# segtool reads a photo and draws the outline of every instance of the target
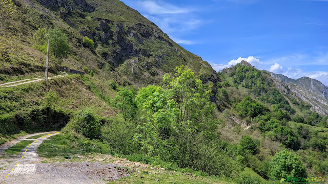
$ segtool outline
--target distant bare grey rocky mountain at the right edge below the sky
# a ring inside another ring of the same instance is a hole
[[[328,115],[328,87],[320,81],[309,77],[301,77],[297,80],[288,78],[282,74],[271,73],[276,79],[276,86],[284,90],[288,86],[293,95],[312,105],[312,110],[319,114]]]

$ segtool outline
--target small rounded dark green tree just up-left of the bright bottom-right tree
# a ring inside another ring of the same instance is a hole
[[[256,154],[258,152],[258,146],[255,140],[250,135],[244,135],[241,137],[237,153],[240,155]]]

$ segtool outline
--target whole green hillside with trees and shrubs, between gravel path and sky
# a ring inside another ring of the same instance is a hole
[[[328,176],[328,117],[268,72],[241,61],[217,73],[118,0],[3,2],[0,84],[43,77],[48,39],[49,76],[56,64],[85,75],[1,87],[0,144],[62,128],[61,157],[235,183]]]

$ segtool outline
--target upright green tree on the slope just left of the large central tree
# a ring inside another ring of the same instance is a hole
[[[121,111],[126,121],[133,118],[136,113],[137,105],[133,98],[134,94],[128,87],[118,91],[115,97],[116,107]]]

